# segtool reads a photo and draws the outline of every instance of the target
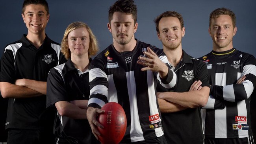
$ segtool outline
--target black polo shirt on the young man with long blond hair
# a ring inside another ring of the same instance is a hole
[[[47,106],[55,107],[59,101],[89,100],[89,70],[81,72],[69,59],[67,63],[50,70],[47,80]],[[78,120],[55,115],[54,133],[58,138],[67,139],[73,144],[98,144],[88,120]]]

